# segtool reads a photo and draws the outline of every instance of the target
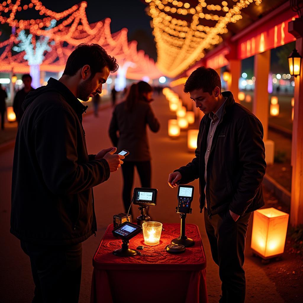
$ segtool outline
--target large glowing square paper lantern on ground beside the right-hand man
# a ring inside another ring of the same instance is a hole
[[[284,252],[289,215],[273,207],[254,212],[251,248],[262,258],[272,258]]]

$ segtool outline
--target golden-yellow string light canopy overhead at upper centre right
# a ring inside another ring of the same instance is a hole
[[[152,17],[160,71],[175,78],[205,55],[205,50],[222,41],[227,25],[242,19],[241,10],[262,0],[145,0]],[[190,3],[189,3],[190,2]],[[212,1],[213,2],[213,1]],[[194,5],[192,3],[195,3]],[[206,24],[211,24],[208,26]]]

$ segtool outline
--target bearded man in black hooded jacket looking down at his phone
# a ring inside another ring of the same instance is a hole
[[[33,302],[78,302],[82,241],[95,234],[93,186],[118,170],[124,157],[107,148],[88,155],[77,99],[102,92],[116,59],[96,44],[68,57],[59,81],[28,94],[23,103],[12,172],[11,233],[29,256]]]

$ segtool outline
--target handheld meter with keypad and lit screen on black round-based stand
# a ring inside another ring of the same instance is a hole
[[[181,218],[181,234],[178,238],[171,240],[171,244],[181,244],[185,247],[193,246],[195,241],[187,238],[185,235],[185,218],[186,214],[191,214],[191,202],[194,198],[194,187],[191,185],[179,185],[178,187],[178,206],[176,213]]]

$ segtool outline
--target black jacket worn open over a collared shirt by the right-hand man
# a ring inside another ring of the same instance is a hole
[[[262,180],[265,174],[263,127],[247,108],[235,103],[231,92],[222,92],[227,100],[217,125],[207,163],[206,201],[208,216],[226,211],[237,215],[264,205]],[[210,127],[209,115],[201,119],[196,157],[176,171],[181,184],[199,178],[200,210],[205,205],[205,152]]]

